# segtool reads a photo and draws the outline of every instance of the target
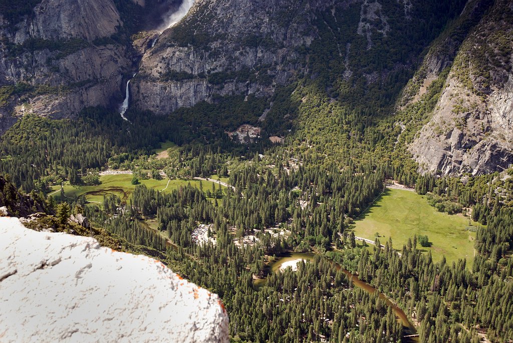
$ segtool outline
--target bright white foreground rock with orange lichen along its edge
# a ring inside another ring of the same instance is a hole
[[[0,218],[0,340],[228,342],[215,294],[157,260]]]

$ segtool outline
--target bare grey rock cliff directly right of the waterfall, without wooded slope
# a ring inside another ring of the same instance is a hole
[[[333,2],[196,0],[144,55],[131,84],[134,105],[167,114],[213,94],[271,95],[301,72],[297,48],[317,37],[313,12],[328,6]]]

